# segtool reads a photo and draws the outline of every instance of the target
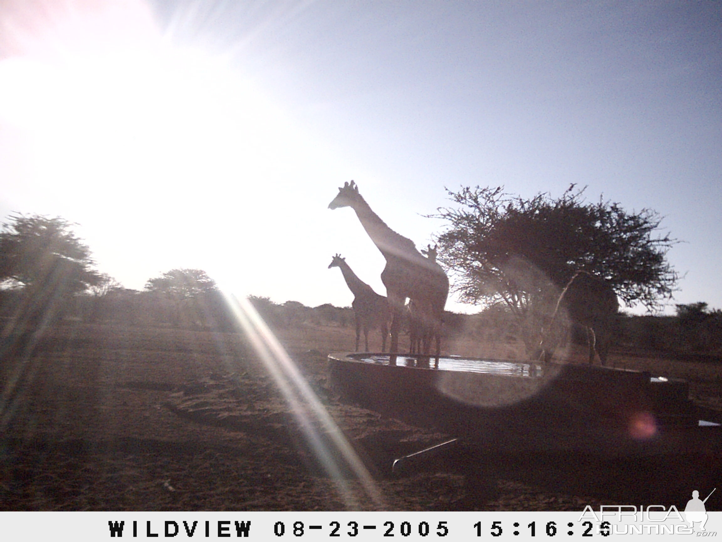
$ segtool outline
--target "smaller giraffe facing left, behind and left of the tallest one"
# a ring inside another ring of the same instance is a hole
[[[378,327],[381,331],[381,351],[384,352],[388,335],[388,320],[391,316],[388,301],[358,278],[349,267],[349,264],[346,263],[346,259],[342,258],[340,254],[336,254],[331,259],[329,269],[331,267],[339,267],[349,290],[354,294],[354,301],[351,306],[354,309],[356,319],[356,351],[359,350],[361,330],[363,330],[365,351],[368,352],[368,332]]]

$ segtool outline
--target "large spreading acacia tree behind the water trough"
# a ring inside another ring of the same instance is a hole
[[[678,275],[666,261],[677,241],[660,234],[659,215],[586,202],[570,186],[562,197],[523,199],[492,188],[447,189],[458,207],[441,207],[447,222],[439,260],[464,301],[503,303],[518,317],[534,301],[556,296],[578,270],[604,278],[627,306],[652,311],[671,298]]]

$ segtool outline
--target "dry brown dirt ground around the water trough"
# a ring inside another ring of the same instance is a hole
[[[370,477],[329,474],[263,356],[235,333],[66,325],[0,365],[3,510],[576,510],[675,504],[722,483],[719,457],[606,460],[474,454],[457,447],[406,476],[391,462],[448,436],[344,403],[326,355],[352,331],[299,327],[279,341]],[[514,358],[513,343],[456,340],[463,356]],[[572,356],[573,357],[573,356]],[[615,353],[617,366],[691,382],[722,410],[722,367]],[[310,421],[318,429],[318,421]],[[326,436],[328,431],[326,429]],[[329,442],[326,438],[324,442]],[[335,454],[335,455],[334,455]],[[331,451],[331,459],[339,452]],[[722,499],[708,510],[722,509]]]

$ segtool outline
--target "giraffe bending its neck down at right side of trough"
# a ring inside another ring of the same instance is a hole
[[[577,271],[565,285],[554,308],[547,332],[542,332],[539,342],[539,359],[549,361],[559,343],[560,311],[567,314],[570,324],[577,324],[586,330],[589,345],[589,364],[599,355],[604,366],[612,343],[614,324],[619,300],[606,280],[586,271]],[[557,329],[552,329],[556,325]],[[556,331],[556,332],[555,332]],[[599,345],[599,348],[598,348]]]

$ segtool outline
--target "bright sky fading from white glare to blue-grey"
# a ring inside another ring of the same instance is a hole
[[[385,290],[344,181],[418,248],[445,186],[577,183],[661,213],[673,304],[722,308],[720,2],[6,0],[0,59],[0,215],[129,288],[346,306],[336,253]]]

